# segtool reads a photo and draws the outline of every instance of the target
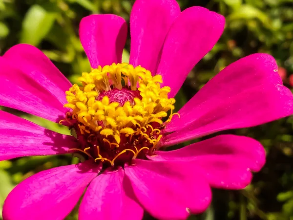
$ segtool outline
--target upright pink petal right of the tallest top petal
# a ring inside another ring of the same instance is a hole
[[[175,20],[164,43],[157,73],[174,97],[190,70],[216,44],[223,33],[223,16],[202,7],[190,7]]]

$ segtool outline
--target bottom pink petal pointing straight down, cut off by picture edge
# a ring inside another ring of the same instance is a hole
[[[79,220],[141,220],[144,210],[126,196],[124,176],[122,168],[97,176],[84,194]]]

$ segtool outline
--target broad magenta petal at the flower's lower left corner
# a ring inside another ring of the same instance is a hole
[[[6,198],[3,219],[63,220],[97,176],[92,168],[87,163],[68,165],[28,177]]]

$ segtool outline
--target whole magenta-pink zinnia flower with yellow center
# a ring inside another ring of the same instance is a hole
[[[88,185],[80,220],[139,220],[144,210],[157,219],[186,219],[207,209],[210,187],[246,187],[251,171],[265,163],[263,147],[249,137],[219,135],[179,150],[159,150],[293,113],[292,93],[282,86],[272,56],[253,54],[211,79],[178,112],[180,118],[171,113],[162,122],[189,71],[218,41],[224,23],[205,8],[180,12],[175,0],[136,0],[129,63],[142,67],[133,69],[111,65],[121,62],[126,22],[115,15],[85,17],[80,38],[94,69],[83,74],[82,88],[72,86],[37,48],[19,44],[9,49],[0,57],[0,105],[63,121],[77,138],[1,111],[0,160],[68,151],[82,152],[87,160],[22,181],[7,197],[3,218],[63,219]],[[104,71],[105,65],[111,66]]]

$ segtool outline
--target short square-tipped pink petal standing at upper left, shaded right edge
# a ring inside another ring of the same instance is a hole
[[[84,17],[79,34],[93,68],[121,63],[127,37],[127,25],[123,18],[110,14]]]

